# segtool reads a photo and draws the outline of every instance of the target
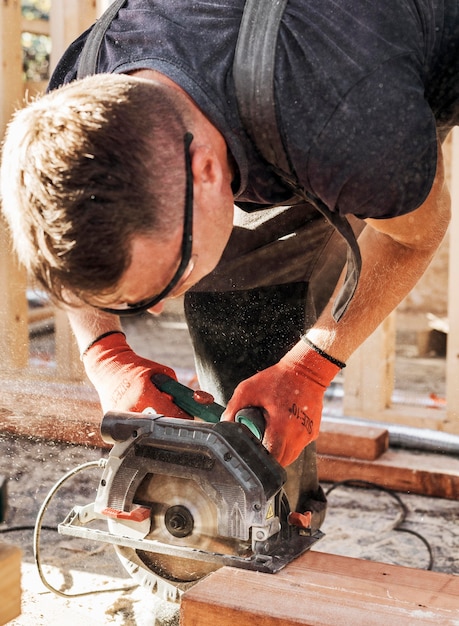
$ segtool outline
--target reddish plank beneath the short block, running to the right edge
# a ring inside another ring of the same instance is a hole
[[[388,489],[424,496],[459,497],[459,459],[430,453],[388,450],[376,461],[319,455],[319,480],[367,480]]]

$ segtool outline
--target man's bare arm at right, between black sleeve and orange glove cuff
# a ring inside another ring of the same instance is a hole
[[[365,341],[416,285],[440,245],[450,219],[441,149],[426,201],[407,215],[367,220],[359,237],[362,273],[348,311],[339,323],[325,309],[307,337],[340,361]]]

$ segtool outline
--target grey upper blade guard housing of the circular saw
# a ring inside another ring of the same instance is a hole
[[[118,523],[133,525],[136,510],[149,509],[157,526],[150,532],[204,549],[197,528],[205,529],[202,536],[244,543],[266,541],[279,532],[276,496],[286,473],[246,427],[134,415],[104,417],[103,436],[115,445],[96,512],[112,511]],[[161,524],[157,511],[164,512]]]

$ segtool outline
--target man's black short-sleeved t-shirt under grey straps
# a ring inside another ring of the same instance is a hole
[[[129,0],[98,72],[158,70],[222,132],[238,203],[286,197],[244,132],[232,63],[243,0]],[[54,89],[76,78],[87,32]],[[437,130],[459,121],[458,0],[289,0],[276,44],[280,132],[304,188],[334,211],[387,218],[417,208],[436,170]]]

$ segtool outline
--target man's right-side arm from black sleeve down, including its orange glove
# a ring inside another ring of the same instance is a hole
[[[301,339],[278,363],[242,381],[224,419],[233,420],[246,406],[262,407],[265,446],[282,465],[292,463],[319,434],[327,386],[417,283],[443,239],[449,217],[439,156],[434,184],[422,206],[403,217],[368,220],[359,238],[359,285],[341,320],[334,321],[331,300],[306,335],[311,343]]]

